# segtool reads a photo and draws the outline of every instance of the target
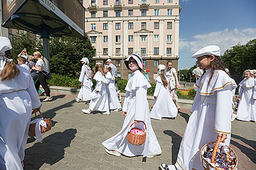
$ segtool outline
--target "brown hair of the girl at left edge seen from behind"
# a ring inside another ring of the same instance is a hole
[[[11,59],[11,51],[8,50],[5,52],[5,56],[7,56],[8,59]],[[19,68],[17,68],[16,64],[13,61],[7,62],[0,73],[1,81],[4,80],[11,80],[15,78],[17,75],[20,74]]]

